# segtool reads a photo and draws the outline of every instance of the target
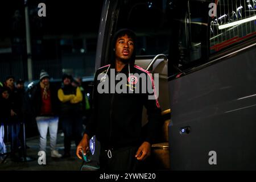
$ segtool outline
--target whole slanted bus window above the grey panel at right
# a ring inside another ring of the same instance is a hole
[[[217,16],[209,16],[208,2],[176,2],[172,17],[169,76],[195,71],[200,65],[245,45],[256,36],[256,1],[216,2]],[[238,46],[239,44],[239,46]],[[232,48],[232,49],[231,49]],[[193,70],[192,70],[193,69]]]

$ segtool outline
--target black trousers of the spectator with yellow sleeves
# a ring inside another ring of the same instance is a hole
[[[61,117],[64,133],[64,152],[69,154],[71,141],[75,140],[76,146],[82,139],[82,118],[80,115],[67,115]]]

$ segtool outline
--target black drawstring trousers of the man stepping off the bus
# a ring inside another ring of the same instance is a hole
[[[106,148],[101,148],[100,171],[144,171],[148,159],[137,160],[135,154],[138,146],[122,147],[110,152]]]

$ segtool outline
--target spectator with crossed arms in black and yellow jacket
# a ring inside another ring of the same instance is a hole
[[[76,146],[82,138],[82,92],[79,87],[71,84],[71,75],[63,75],[63,86],[58,90],[60,104],[60,121],[64,133],[63,158],[71,156],[71,140],[75,139]]]

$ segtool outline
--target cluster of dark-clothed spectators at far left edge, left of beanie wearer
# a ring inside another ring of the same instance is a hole
[[[0,154],[7,152],[5,145],[5,133],[9,136],[11,143],[11,158],[15,159],[15,152],[22,155],[22,146],[24,145],[20,135],[20,126],[23,117],[23,98],[24,81],[16,81],[14,76],[7,76],[5,81],[0,84]],[[7,130],[8,129],[8,130]],[[5,155],[1,155],[3,159]]]

